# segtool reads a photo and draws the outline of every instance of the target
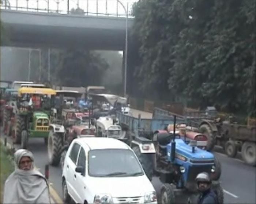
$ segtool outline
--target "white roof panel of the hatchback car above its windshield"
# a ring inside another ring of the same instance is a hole
[[[85,137],[76,138],[74,141],[80,143],[82,146],[89,146],[91,150],[94,149],[129,149],[129,146],[124,142],[108,137]]]

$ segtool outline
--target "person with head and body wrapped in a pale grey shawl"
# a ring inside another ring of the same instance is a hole
[[[4,186],[3,203],[50,203],[46,178],[34,169],[34,156],[26,149],[14,153],[15,170]]]

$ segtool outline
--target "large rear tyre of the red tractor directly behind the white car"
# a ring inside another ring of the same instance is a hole
[[[60,151],[62,147],[61,141],[62,134],[54,133],[52,130],[50,130],[47,149],[49,163],[53,166],[59,165],[60,162]]]

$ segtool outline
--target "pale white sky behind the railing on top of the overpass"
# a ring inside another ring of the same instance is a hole
[[[16,7],[16,0],[9,0],[11,6]],[[57,10],[58,0],[49,0],[49,9]],[[138,0],[120,0],[124,6],[127,8],[128,3],[128,13],[131,12],[132,4]],[[59,10],[63,13],[67,12],[67,0],[59,0]],[[96,13],[97,11],[97,0],[69,0],[69,9],[79,7],[87,11],[88,2],[88,12]],[[107,3],[107,4],[106,4]],[[37,0],[28,1],[30,8],[37,8]],[[47,0],[38,0],[39,9],[47,9]],[[26,7],[27,0],[18,0],[18,7]],[[21,9],[19,9],[21,10]],[[26,9],[25,9],[26,10]],[[107,12],[106,12],[107,11]],[[41,11],[42,12],[42,11]],[[98,0],[98,13],[108,13],[116,15],[117,13],[117,0]],[[118,3],[118,14],[125,15],[125,11],[120,3]]]

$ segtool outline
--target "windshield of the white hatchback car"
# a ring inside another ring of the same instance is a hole
[[[90,150],[88,157],[90,176],[141,176],[144,174],[139,161],[131,150]]]

